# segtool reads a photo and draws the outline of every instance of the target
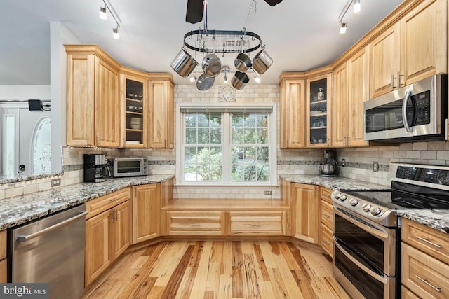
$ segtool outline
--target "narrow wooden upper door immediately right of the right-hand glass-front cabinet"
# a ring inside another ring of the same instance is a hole
[[[332,146],[342,147],[347,144],[348,135],[348,81],[347,63],[334,71],[333,80],[333,125]]]

